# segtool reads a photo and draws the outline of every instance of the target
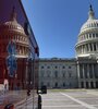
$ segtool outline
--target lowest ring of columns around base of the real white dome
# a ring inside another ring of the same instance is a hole
[[[90,51],[98,51],[97,48],[98,48],[98,43],[86,44],[77,47],[76,52],[79,55],[79,53],[86,53]]]

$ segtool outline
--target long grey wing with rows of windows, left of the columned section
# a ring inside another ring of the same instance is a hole
[[[75,88],[77,87],[75,59],[40,59],[39,86],[48,88]]]

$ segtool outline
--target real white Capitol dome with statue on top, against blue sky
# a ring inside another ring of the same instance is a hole
[[[98,57],[98,20],[91,5],[88,20],[81,27],[75,49],[76,57]]]

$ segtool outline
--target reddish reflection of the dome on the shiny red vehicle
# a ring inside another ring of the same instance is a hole
[[[0,24],[0,45],[2,46],[2,57],[7,57],[7,49],[9,43],[15,43],[16,45],[16,57],[26,58],[28,57],[29,44],[28,36],[25,34],[24,28],[17,23],[16,13],[13,8],[10,21]]]

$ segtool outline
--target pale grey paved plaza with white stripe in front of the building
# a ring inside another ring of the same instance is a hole
[[[48,90],[42,109],[98,109],[98,90]]]

